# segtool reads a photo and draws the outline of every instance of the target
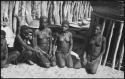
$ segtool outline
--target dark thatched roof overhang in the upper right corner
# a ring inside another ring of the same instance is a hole
[[[124,1],[90,1],[95,12],[104,16],[124,20]]]

